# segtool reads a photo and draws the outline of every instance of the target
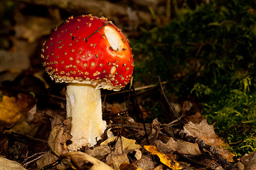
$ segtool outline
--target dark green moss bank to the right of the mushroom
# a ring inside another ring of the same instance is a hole
[[[211,1],[131,40],[135,81],[159,75],[167,93],[193,95],[236,155],[256,149],[255,13],[254,1]]]

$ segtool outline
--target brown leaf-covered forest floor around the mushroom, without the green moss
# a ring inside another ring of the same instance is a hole
[[[94,147],[69,152],[65,84],[51,81],[41,64],[41,47],[53,28],[70,13],[90,11],[107,15],[119,23],[127,36],[137,37],[139,32],[135,30],[146,22],[164,24],[171,18],[171,13],[165,13],[168,18],[154,18],[148,8],[140,8],[145,6],[143,1],[133,2],[134,8],[127,8],[124,1],[119,4],[88,1],[91,6],[78,2],[2,3],[10,9],[11,18],[7,20],[10,24],[1,30],[0,167],[6,170],[256,169],[255,152],[234,157],[225,140],[216,135],[214,124],[209,125],[203,118],[201,103],[193,98],[170,102],[164,91],[169,82],[160,79],[159,84],[143,85],[137,81],[118,92],[102,90],[102,116],[107,122],[102,139]],[[163,1],[146,2],[152,3],[152,10],[165,6]],[[169,114],[164,118],[166,122],[161,121],[163,118],[153,118],[152,98],[157,98]]]

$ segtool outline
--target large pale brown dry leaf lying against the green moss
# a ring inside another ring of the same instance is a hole
[[[228,147],[228,144],[215,134],[213,125],[208,125],[206,119],[202,120],[201,123],[198,124],[188,122],[184,126],[184,131],[193,137],[199,137],[201,140],[206,142],[206,144],[217,148],[223,158],[227,159],[229,162],[233,162],[234,154],[223,148]]]

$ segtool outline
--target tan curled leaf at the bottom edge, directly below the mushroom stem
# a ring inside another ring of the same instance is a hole
[[[95,157],[83,152],[68,152],[60,156],[63,164],[71,166],[73,169],[88,169],[88,170],[113,170],[107,164],[101,162]]]

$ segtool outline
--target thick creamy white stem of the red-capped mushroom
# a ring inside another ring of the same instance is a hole
[[[68,84],[66,90],[67,118],[72,117],[70,151],[94,146],[106,128],[102,120],[100,89],[86,84]]]

